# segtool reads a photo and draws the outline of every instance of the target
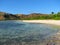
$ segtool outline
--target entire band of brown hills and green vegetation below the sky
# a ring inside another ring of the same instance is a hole
[[[40,14],[40,13],[32,13],[32,14],[8,14],[0,12],[0,20],[60,20],[60,12],[57,14],[54,14],[54,12],[51,12],[51,14]]]

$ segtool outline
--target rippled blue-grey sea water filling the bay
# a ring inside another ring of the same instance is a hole
[[[49,24],[0,21],[0,45],[41,45],[59,30]]]

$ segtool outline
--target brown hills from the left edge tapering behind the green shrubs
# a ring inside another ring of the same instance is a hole
[[[0,12],[0,20],[20,20],[20,19],[30,19],[32,17],[38,16],[47,16],[47,14],[40,14],[40,13],[32,13],[32,14],[9,14],[5,12]]]

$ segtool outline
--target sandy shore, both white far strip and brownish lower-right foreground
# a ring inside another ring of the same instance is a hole
[[[43,23],[43,24],[51,24],[51,25],[60,26],[60,20],[23,20],[23,22]],[[55,44],[60,45],[60,31],[52,35],[47,41],[47,45],[55,45]]]

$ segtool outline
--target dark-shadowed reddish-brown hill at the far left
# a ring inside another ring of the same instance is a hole
[[[17,15],[0,12],[0,20],[16,20],[19,17]]]

